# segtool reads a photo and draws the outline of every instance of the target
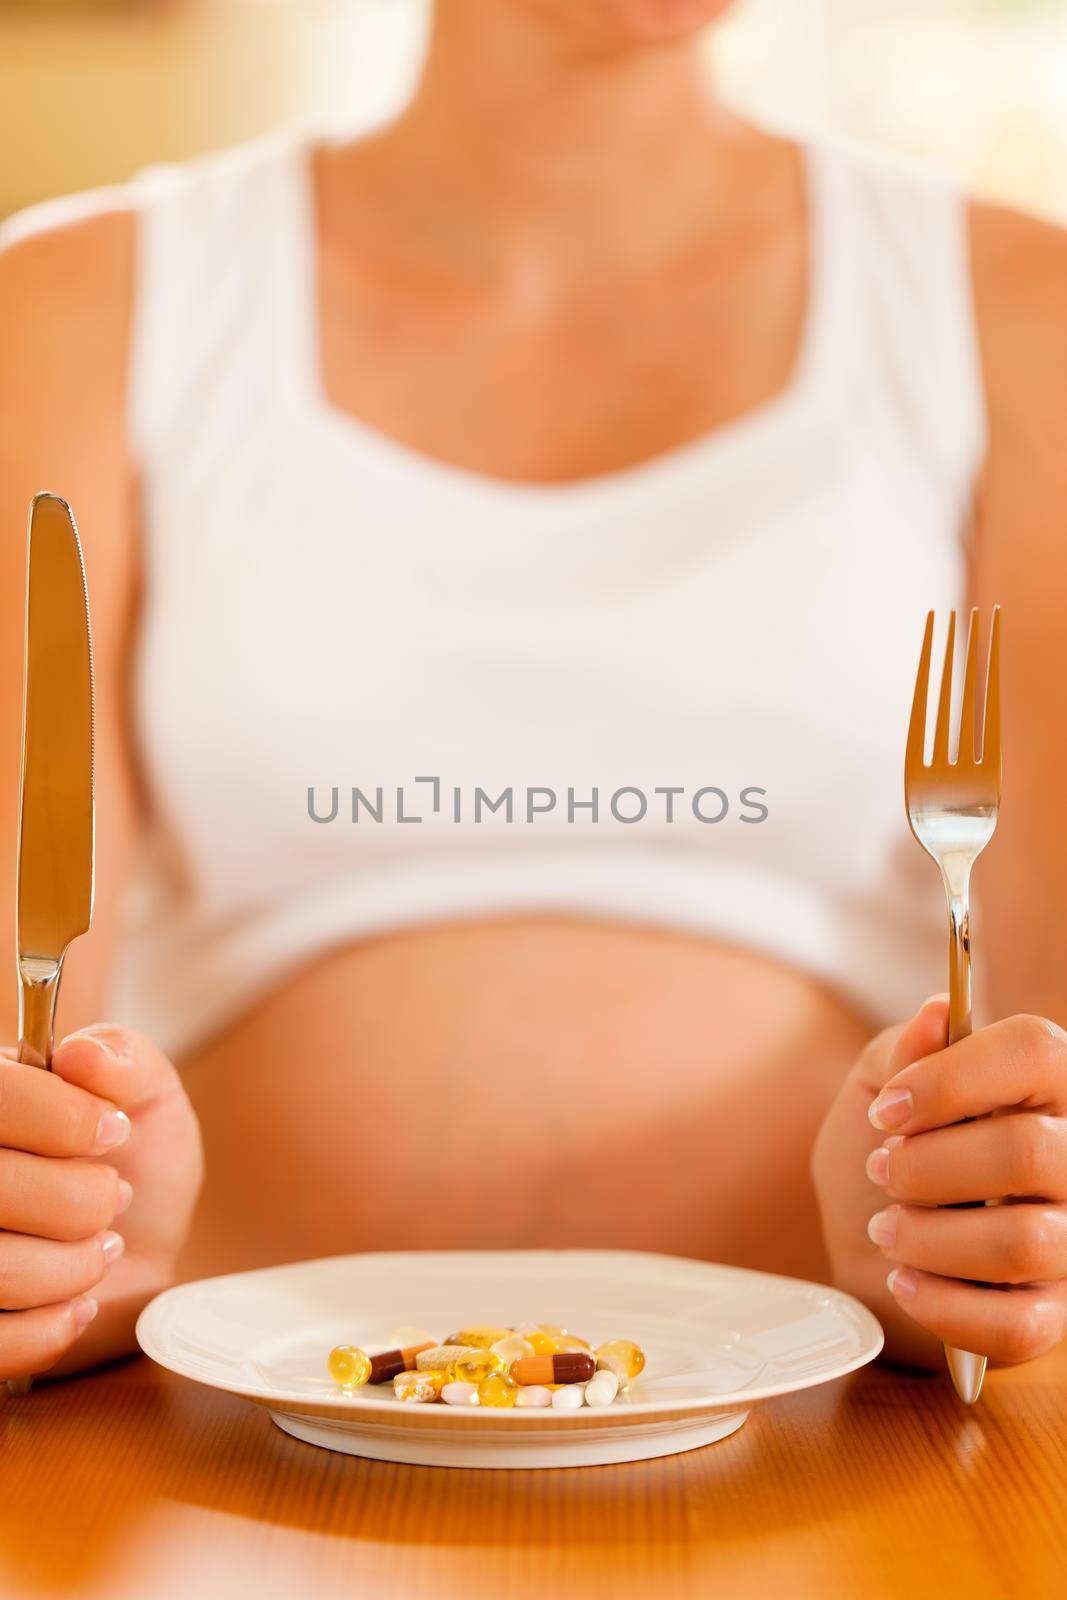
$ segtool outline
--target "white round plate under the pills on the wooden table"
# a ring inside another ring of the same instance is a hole
[[[464,1323],[569,1326],[635,1339],[641,1378],[614,1405],[507,1411],[405,1405],[392,1387],[341,1394],[334,1344],[382,1346],[402,1323],[440,1338]],[[573,1467],[643,1461],[725,1438],[758,1400],[854,1371],[881,1328],[848,1294],[766,1272],[614,1250],[333,1256],[166,1290],[138,1322],[174,1373],[270,1410],[328,1450],[435,1467]]]

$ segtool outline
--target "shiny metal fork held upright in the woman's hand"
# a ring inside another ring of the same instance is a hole
[[[1000,606],[993,606],[985,669],[982,750],[976,755],[977,610],[971,611],[963,669],[958,755],[949,757],[952,720],[952,661],[957,614],[949,614],[949,638],[941,674],[934,749],[926,765],[926,701],[934,613],[926,618],[923,651],[915,678],[912,720],[904,758],[904,802],[912,834],[941,867],[949,901],[949,1043],[971,1032],[971,867],[989,845],[1000,810]],[[945,1360],[961,1400],[977,1400],[985,1357],[945,1346]]]

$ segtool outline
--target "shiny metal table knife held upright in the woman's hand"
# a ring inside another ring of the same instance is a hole
[[[93,920],[93,646],[74,514],[29,515],[18,861],[19,1061],[51,1066],[67,946]],[[29,1379],[11,1379],[26,1394]]]

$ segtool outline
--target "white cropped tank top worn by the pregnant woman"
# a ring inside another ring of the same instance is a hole
[[[182,1054],[349,941],[573,914],[905,1016],[944,981],[944,909],[904,733],[984,453],[961,197],[808,147],[787,389],[648,464],[518,485],[325,398],[310,147],[131,189],[152,818],[115,1014]]]

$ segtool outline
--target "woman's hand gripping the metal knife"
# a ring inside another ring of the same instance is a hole
[[[0,1378],[134,1347],[200,1189],[178,1072],[112,1024],[67,1035],[51,1072],[0,1053]],[[88,1331],[86,1331],[88,1330]]]

